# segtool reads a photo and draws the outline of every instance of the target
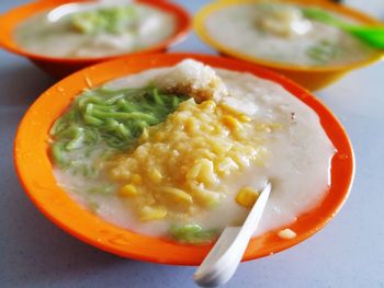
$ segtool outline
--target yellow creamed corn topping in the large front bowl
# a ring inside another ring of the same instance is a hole
[[[230,177],[262,164],[267,134],[257,125],[222,104],[191,99],[147,127],[134,151],[108,165],[110,176],[123,183],[118,195],[143,221],[199,214],[226,197]],[[236,200],[251,207],[257,196],[244,188]]]

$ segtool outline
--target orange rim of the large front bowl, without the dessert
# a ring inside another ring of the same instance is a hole
[[[331,161],[331,185],[325,199],[297,221],[284,228],[297,233],[294,239],[281,239],[276,231],[253,238],[244,261],[270,255],[293,246],[323,228],[339,211],[348,197],[354,160],[348,136],[336,117],[305,89],[264,68],[216,56],[161,54],[120,58],[78,71],[43,93],[23,117],[14,141],[14,161],[19,178],[32,201],[54,223],[74,237],[113,254],[166,264],[197,265],[211,245],[184,245],[166,239],[150,238],[104,221],[74,201],[56,184],[48,157],[48,130],[75,96],[84,88],[95,88],[113,79],[146,69],[169,67],[193,58],[215,68],[249,72],[281,84],[312,107],[337,149]]]

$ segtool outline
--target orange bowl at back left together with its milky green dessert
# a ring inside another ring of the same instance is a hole
[[[126,55],[166,50],[189,31],[190,18],[168,1],[43,0],[0,16],[0,46],[63,78]]]

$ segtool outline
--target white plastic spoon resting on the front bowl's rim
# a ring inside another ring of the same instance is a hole
[[[231,278],[259,224],[271,189],[271,183],[267,182],[242,226],[224,229],[216,244],[193,275],[197,285],[216,287]]]

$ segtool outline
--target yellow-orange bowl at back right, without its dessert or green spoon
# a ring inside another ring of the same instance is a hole
[[[372,57],[365,60],[348,64],[348,65],[327,66],[327,67],[294,66],[290,64],[270,61],[270,60],[266,60],[262,58],[257,58],[257,57],[244,54],[235,48],[230,48],[226,46],[225,43],[217,42],[207,33],[205,28],[205,20],[210,18],[210,15],[215,11],[229,8],[230,5],[238,5],[241,3],[252,3],[252,2],[260,2],[260,1],[263,1],[263,0],[219,0],[213,3],[210,3],[205,5],[201,11],[199,11],[197,14],[195,15],[194,23],[193,23],[194,30],[203,42],[205,42],[207,45],[212,46],[219,53],[234,58],[247,60],[247,61],[255,62],[263,67],[270,68],[281,74],[284,74],[291,78],[292,80],[294,80],[295,82],[300,83],[301,85],[305,87],[310,91],[325,88],[334,83],[341,77],[343,77],[347,72],[371,65],[382,59],[384,56],[384,51],[377,50],[376,54],[374,54]],[[366,25],[383,25],[383,23],[376,19],[373,19],[369,15],[365,15],[357,10],[347,8],[345,5],[332,3],[330,1],[287,0],[287,2],[296,3],[301,5],[316,5],[316,7],[332,11],[335,13],[354,19],[358,22]]]

